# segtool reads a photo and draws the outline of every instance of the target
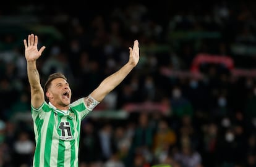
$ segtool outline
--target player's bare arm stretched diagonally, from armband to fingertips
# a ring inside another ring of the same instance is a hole
[[[130,71],[137,65],[139,62],[139,42],[137,40],[134,41],[134,46],[129,47],[130,56],[129,61],[121,67],[118,71],[113,73],[112,75],[105,78],[98,88],[96,88],[92,93],[91,96],[93,99],[101,102],[104,97],[111,92],[118,84],[120,84],[124,78],[130,73]]]

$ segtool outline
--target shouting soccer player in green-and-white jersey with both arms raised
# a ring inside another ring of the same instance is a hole
[[[30,34],[23,40],[27,75],[31,89],[31,113],[35,132],[33,166],[79,166],[80,124],[83,118],[111,92],[139,62],[139,43],[129,47],[129,61],[85,97],[71,102],[72,91],[62,73],[49,75],[41,87],[36,60],[45,50],[38,50],[38,36]],[[48,103],[46,99],[48,99]]]

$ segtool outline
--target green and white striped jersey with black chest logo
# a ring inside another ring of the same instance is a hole
[[[36,148],[33,166],[78,167],[81,121],[90,112],[83,98],[76,100],[65,113],[46,102],[32,107]]]

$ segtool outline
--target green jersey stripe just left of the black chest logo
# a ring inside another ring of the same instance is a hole
[[[48,127],[46,132],[46,141],[45,141],[45,165],[50,164],[51,160],[51,143],[53,139],[53,129],[54,129],[54,112],[51,112],[48,121]]]

